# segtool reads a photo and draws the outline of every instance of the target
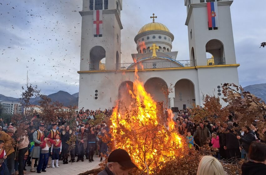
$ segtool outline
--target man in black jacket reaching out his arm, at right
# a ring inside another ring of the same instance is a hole
[[[256,138],[255,138],[254,132],[248,126],[245,126],[243,130],[245,132],[243,138],[241,138],[240,136],[237,136],[237,139],[240,140],[242,143],[239,149],[242,150],[243,148],[248,153],[250,144],[253,141],[255,141]],[[248,154],[247,154],[247,159],[248,159]]]

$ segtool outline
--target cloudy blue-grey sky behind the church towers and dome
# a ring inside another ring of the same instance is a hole
[[[37,85],[43,94],[79,91],[82,0],[0,0],[0,94],[19,98],[21,86]],[[266,83],[266,1],[235,0],[231,6],[239,82]],[[121,62],[132,62],[134,37],[151,22],[165,24],[175,36],[172,51],[189,59],[184,0],[123,0]]]

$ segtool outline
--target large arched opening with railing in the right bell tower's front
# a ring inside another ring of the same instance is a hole
[[[223,43],[217,39],[208,41],[206,44],[206,58],[207,65],[225,64]]]

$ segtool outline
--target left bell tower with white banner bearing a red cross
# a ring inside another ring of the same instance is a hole
[[[120,63],[122,0],[83,0],[80,71],[114,70]]]

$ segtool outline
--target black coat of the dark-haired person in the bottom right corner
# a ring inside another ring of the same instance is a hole
[[[248,161],[243,163],[242,175],[266,175],[266,165],[264,163],[254,163]]]

